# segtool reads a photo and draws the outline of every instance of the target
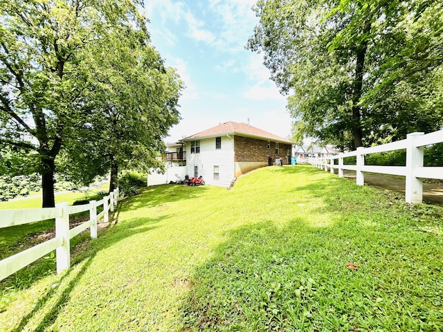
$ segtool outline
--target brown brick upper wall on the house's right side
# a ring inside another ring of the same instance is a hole
[[[278,157],[283,159],[284,164],[286,164],[287,149],[291,151],[291,145],[280,143],[280,154]],[[267,140],[235,136],[234,154],[235,162],[255,161],[267,163],[268,156],[271,156],[272,161],[275,162],[275,142],[271,141],[271,147],[268,149]]]

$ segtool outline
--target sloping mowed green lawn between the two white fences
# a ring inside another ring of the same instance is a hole
[[[150,187],[66,273],[3,282],[0,330],[440,331],[442,216],[308,165]]]

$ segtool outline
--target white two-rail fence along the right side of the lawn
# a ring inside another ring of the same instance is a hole
[[[338,176],[343,177],[343,169],[356,171],[356,184],[364,185],[363,172],[401,175],[406,177],[405,196],[408,203],[422,203],[422,178],[436,178],[443,180],[443,167],[423,167],[423,147],[443,142],[443,130],[433,133],[408,133],[406,140],[399,140],[376,147],[357,147],[356,151],[328,156],[325,158],[311,158],[309,163],[320,168],[328,168],[331,173],[338,169]],[[378,152],[406,149],[406,166],[370,166],[365,165],[365,155]],[[356,156],[356,165],[344,165],[343,158]],[[334,160],[338,159],[338,165]]]

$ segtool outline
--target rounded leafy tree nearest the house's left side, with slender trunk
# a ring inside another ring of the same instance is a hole
[[[147,171],[161,165],[156,154],[163,150],[168,129],[179,121],[177,102],[183,89],[177,73],[165,68],[150,45],[147,33],[127,29],[123,36],[120,29],[111,29],[100,48],[93,48],[88,68],[96,106],[67,147],[76,157],[66,159],[70,161],[65,165],[71,168],[68,174],[86,183],[110,169],[110,192],[118,169]],[[88,148],[79,154],[85,144]]]

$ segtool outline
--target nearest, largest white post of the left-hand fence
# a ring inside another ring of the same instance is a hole
[[[62,216],[55,218],[55,237],[62,240],[62,246],[55,249],[57,257],[57,273],[71,266],[71,249],[69,247],[69,214],[67,212],[68,203],[58,203],[55,205],[62,209]]]

